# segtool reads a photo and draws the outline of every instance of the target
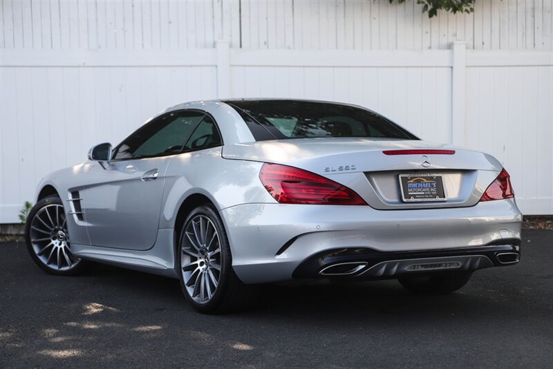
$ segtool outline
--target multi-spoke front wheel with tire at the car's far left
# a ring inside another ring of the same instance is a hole
[[[85,261],[71,251],[64,203],[57,196],[37,202],[25,223],[27,250],[45,272],[73,276],[83,271]]]

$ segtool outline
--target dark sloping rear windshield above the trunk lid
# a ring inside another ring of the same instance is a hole
[[[256,141],[316,137],[418,140],[382,115],[355,106],[293,100],[229,101]]]

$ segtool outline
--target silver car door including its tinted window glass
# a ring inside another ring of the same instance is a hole
[[[145,124],[96,162],[82,191],[91,244],[146,250],[156,242],[165,171],[205,113],[176,111]]]

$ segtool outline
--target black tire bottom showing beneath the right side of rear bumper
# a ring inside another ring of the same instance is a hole
[[[449,294],[467,284],[472,272],[442,276],[404,276],[397,278],[401,285],[414,294]]]

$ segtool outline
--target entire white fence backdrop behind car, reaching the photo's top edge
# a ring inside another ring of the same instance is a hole
[[[366,106],[495,155],[523,213],[553,214],[552,5],[429,19],[415,0],[1,0],[0,223],[93,144],[227,97]]]

